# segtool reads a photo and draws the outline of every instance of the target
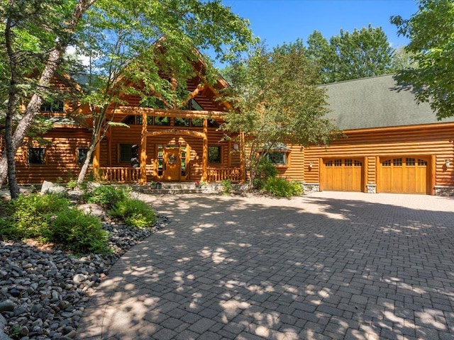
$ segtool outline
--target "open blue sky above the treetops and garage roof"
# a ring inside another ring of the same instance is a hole
[[[406,45],[408,40],[397,36],[390,16],[409,18],[418,4],[413,0],[222,0],[233,13],[248,18],[255,35],[269,47],[294,42],[319,30],[329,40],[341,28],[382,27],[392,47]]]

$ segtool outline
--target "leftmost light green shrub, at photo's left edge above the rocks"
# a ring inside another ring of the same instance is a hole
[[[10,217],[1,222],[0,234],[13,239],[40,238],[58,212],[67,210],[69,201],[55,193],[19,196],[9,203]]]

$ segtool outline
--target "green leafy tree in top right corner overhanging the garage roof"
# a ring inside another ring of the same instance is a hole
[[[437,118],[454,115],[454,2],[420,0],[409,19],[392,16],[400,35],[410,39],[406,52],[418,67],[397,74],[399,84],[412,84],[416,100],[428,102]]]

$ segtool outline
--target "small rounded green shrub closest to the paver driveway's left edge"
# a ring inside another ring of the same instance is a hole
[[[156,221],[155,212],[141,200],[126,198],[119,200],[109,211],[109,215],[126,222],[130,227],[150,227]]]

